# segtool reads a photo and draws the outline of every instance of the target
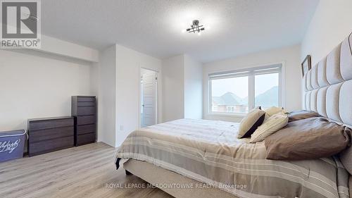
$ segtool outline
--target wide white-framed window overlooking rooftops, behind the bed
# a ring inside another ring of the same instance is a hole
[[[209,75],[209,113],[281,106],[282,64]]]

